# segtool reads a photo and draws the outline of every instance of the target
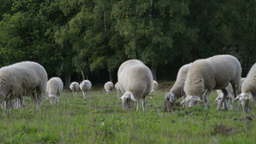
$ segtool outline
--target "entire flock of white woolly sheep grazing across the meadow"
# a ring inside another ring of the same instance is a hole
[[[86,99],[91,86],[89,80],[84,80],[80,84],[73,82],[69,88],[73,96],[81,89]],[[140,111],[139,101],[142,99],[145,111],[146,97],[150,92],[155,92],[158,83],[141,60],[126,60],[119,66],[118,82],[115,85],[110,81],[104,84],[107,94],[111,93],[113,87],[118,91],[118,99],[122,101],[124,110],[130,110],[137,103],[137,111]],[[214,89],[218,92],[218,110],[230,107],[238,110],[239,100],[243,112],[251,112],[256,100],[256,64],[248,72],[247,78],[241,78],[241,64],[232,55],[215,55],[182,66],[175,84],[166,93],[165,110],[171,111],[182,97],[179,105],[183,107],[195,107],[197,103],[208,107],[209,95]],[[61,78],[48,80],[44,67],[36,62],[23,61],[0,69],[0,105],[6,110],[24,107],[24,95],[31,95],[36,108],[41,106],[44,98],[49,99],[50,103],[59,103],[62,90]]]

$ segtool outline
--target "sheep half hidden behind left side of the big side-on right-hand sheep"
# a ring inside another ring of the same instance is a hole
[[[189,66],[191,63],[183,65],[177,72],[176,82],[173,84],[170,92],[166,93],[165,96],[165,110],[169,112],[172,106],[175,106],[176,101],[185,96],[183,87],[187,77],[187,73],[189,71]]]

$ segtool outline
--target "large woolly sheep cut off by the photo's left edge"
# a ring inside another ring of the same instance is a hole
[[[46,94],[47,72],[33,61],[22,61],[0,69],[0,104],[4,101],[20,99],[24,107],[23,95],[32,95],[35,108],[41,106]]]

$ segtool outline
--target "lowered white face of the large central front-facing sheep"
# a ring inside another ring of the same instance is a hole
[[[122,101],[123,110],[130,110],[136,101],[131,91],[126,91],[119,100]]]

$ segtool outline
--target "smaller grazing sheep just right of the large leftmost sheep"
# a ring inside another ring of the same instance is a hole
[[[62,90],[63,90],[63,82],[61,78],[53,77],[49,79],[49,81],[47,82],[46,91],[48,93],[49,102],[51,104],[53,104],[55,100],[56,100],[56,103],[60,102],[60,96],[61,96]]]

